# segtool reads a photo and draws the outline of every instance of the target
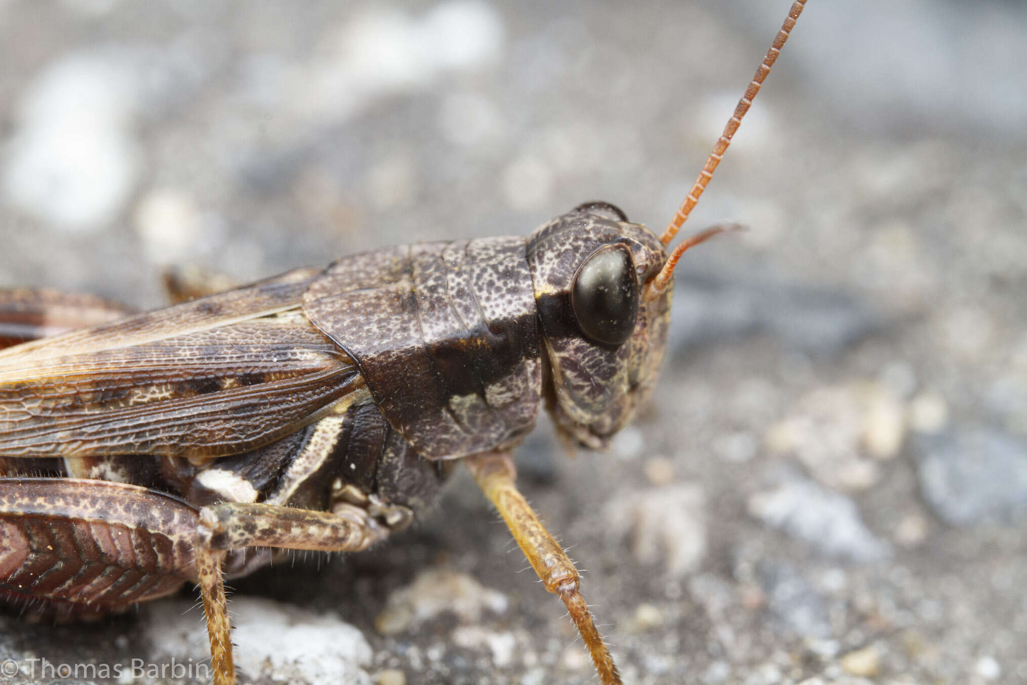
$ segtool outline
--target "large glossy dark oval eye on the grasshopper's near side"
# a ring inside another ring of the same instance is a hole
[[[626,245],[603,245],[584,261],[574,276],[571,307],[581,333],[593,342],[619,345],[627,340],[639,315],[639,280]]]

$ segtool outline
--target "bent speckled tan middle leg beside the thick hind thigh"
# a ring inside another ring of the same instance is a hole
[[[193,544],[215,685],[233,685],[231,623],[221,562],[232,549],[279,547],[314,551],[359,551],[384,539],[386,528],[364,509],[338,504],[311,511],[273,504],[226,502],[204,507]]]

